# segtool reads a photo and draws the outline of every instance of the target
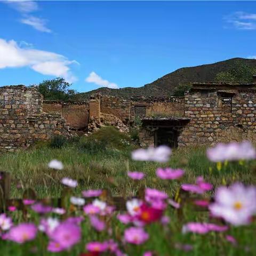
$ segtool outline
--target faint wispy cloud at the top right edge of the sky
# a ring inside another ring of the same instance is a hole
[[[256,14],[246,12],[234,12],[226,16],[225,21],[230,27],[241,30],[256,29]]]

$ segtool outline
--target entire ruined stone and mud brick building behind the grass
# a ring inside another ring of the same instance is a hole
[[[26,148],[55,134],[139,125],[141,146],[211,145],[255,140],[256,83],[195,83],[185,97],[92,95],[89,101],[43,101],[35,87],[0,87],[0,149]]]

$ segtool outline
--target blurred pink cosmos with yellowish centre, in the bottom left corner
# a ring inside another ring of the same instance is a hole
[[[6,234],[6,239],[23,244],[27,241],[34,240],[36,237],[37,228],[33,223],[20,223],[14,226]]]

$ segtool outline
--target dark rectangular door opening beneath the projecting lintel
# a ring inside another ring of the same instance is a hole
[[[174,127],[159,128],[155,131],[155,147],[166,145],[171,148],[178,147],[179,132]]]

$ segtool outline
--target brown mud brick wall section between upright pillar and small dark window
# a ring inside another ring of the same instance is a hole
[[[128,125],[130,121],[130,101],[122,97],[102,96],[100,100],[100,112],[114,115]]]

